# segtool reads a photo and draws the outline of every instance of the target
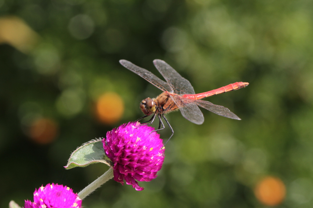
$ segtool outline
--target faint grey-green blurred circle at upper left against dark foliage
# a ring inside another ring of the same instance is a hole
[[[79,14],[69,21],[69,33],[77,40],[84,40],[94,32],[95,23],[86,14]]]

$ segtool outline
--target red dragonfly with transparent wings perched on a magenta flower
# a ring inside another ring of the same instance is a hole
[[[165,114],[172,111],[180,110],[182,116],[185,117],[188,121],[199,125],[203,124],[204,117],[198,106],[213,113],[216,113],[220,116],[241,120],[228,108],[224,106],[214,105],[211,102],[201,99],[247,87],[249,85],[248,82],[235,82],[233,84],[229,84],[215,90],[196,94],[191,83],[187,79],[183,78],[165,61],[155,59],[153,61],[153,64],[160,72],[160,74],[164,77],[166,82],[164,82],[162,79],[149,72],[148,70],[138,67],[127,60],[120,60],[120,63],[125,68],[136,73],[137,75],[144,78],[146,81],[150,82],[151,84],[163,91],[156,98],[151,99],[150,97],[148,97],[141,101],[140,109],[145,114],[145,116],[139,118],[137,121],[140,121],[147,116],[153,115],[150,120],[142,122],[143,125],[150,125],[153,123],[157,116],[159,118],[159,128],[155,131],[160,131],[165,128],[162,121],[163,117],[163,119],[166,121],[167,125],[172,131],[172,135],[169,137],[168,140],[170,140],[170,138],[173,136],[174,131],[172,126],[168,122]],[[167,141],[165,142],[165,144],[167,143]]]

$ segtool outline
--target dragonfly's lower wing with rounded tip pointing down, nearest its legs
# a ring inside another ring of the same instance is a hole
[[[195,124],[203,124],[204,117],[199,109],[199,107],[192,102],[190,99],[181,99],[178,95],[170,95],[172,100],[178,106],[182,116],[184,116],[188,121]],[[190,100],[190,101],[189,101]]]

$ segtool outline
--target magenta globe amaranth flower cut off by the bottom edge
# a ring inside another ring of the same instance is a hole
[[[67,186],[47,184],[34,192],[34,202],[25,200],[24,208],[80,208],[82,200]]]

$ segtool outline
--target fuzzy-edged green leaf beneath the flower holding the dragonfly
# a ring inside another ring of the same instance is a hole
[[[69,157],[66,169],[85,167],[92,163],[102,162],[113,166],[112,161],[106,156],[102,139],[91,140],[77,148]]]

